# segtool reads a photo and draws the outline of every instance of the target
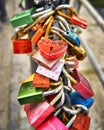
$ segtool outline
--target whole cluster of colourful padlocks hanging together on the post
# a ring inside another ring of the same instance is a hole
[[[44,7],[10,19],[17,28],[12,37],[14,54],[31,53],[38,65],[22,82],[18,101],[36,130],[89,130],[94,93],[78,71],[79,61],[86,57],[78,36],[88,23],[69,4],[44,2]]]

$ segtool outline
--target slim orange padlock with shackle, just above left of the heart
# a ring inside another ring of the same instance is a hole
[[[47,25],[49,24],[49,22],[51,22],[51,24],[52,24],[52,22],[53,22],[53,17],[52,17],[52,16],[50,16],[50,17],[45,21],[44,25],[43,25],[41,28],[39,28],[39,29],[36,31],[36,33],[33,35],[32,39],[31,39],[31,42],[32,42],[33,44],[36,44],[36,43],[38,42],[38,40],[41,38],[41,36],[45,33],[45,30],[46,30]]]

